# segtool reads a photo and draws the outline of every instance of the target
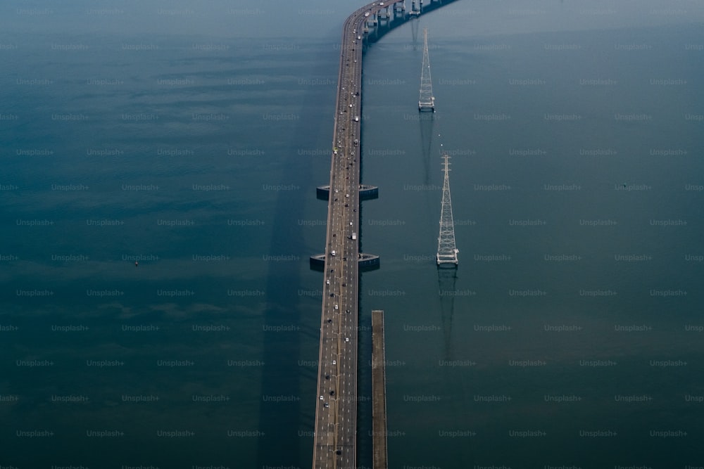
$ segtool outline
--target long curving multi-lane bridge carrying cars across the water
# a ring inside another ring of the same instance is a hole
[[[319,193],[327,189],[329,200],[325,254],[311,257],[311,264],[324,263],[325,272],[313,468],[356,468],[359,269],[375,258],[360,255],[358,244],[363,46],[370,27],[380,27],[382,20],[391,26],[389,8],[394,18],[402,16],[400,25],[452,1],[431,0],[424,9],[422,1],[412,0],[409,13],[406,0],[375,1],[358,8],[344,23],[330,182],[318,188]]]

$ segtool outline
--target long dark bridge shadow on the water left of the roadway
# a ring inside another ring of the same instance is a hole
[[[331,38],[332,39],[332,38]],[[331,48],[331,50],[334,50]],[[337,54],[330,53],[331,60],[339,60]],[[320,62],[318,62],[320,64]],[[325,76],[335,66],[318,65],[308,70],[311,77]],[[308,139],[316,137],[327,140],[332,134],[330,114],[320,113],[316,106],[303,103],[315,102],[320,99],[320,87],[307,86],[301,98],[301,106],[296,109],[300,120],[287,143],[289,153],[282,159],[284,171],[291,174],[316,174],[313,165],[329,164],[329,160],[301,157],[298,148],[310,148]],[[334,105],[334,93],[330,93],[330,106]],[[313,129],[313,131],[311,131]],[[329,129],[329,130],[328,130]],[[316,134],[316,132],[318,132]],[[322,136],[322,137],[321,137]],[[295,170],[294,170],[295,169]],[[286,178],[287,176],[282,176]],[[313,432],[315,417],[315,384],[307,392],[305,380],[313,380],[317,373],[308,373],[308,367],[298,366],[301,359],[303,341],[317,340],[306,333],[302,323],[308,322],[304,317],[313,314],[320,319],[320,306],[315,309],[303,309],[299,288],[303,282],[301,264],[309,263],[309,255],[305,252],[306,238],[303,227],[298,220],[306,219],[306,205],[315,200],[315,186],[329,181],[313,181],[308,177],[301,184],[300,195],[291,196],[287,191],[279,191],[275,201],[275,227],[272,230],[269,253],[271,255],[287,254],[298,256],[297,262],[271,262],[268,267],[265,291],[265,307],[263,324],[265,326],[294,326],[298,330],[287,333],[264,333],[263,362],[261,378],[261,400],[259,402],[259,425],[261,432],[256,449],[256,466],[263,467],[308,467],[313,461]],[[317,205],[317,204],[316,204]],[[317,213],[327,210],[325,205],[316,207]],[[320,210],[318,212],[318,210]],[[309,216],[309,215],[308,215]],[[324,227],[323,227],[324,229]],[[282,252],[284,249],[294,252]],[[320,241],[320,249],[325,249],[324,238]],[[322,278],[320,278],[322,283]],[[321,285],[316,285],[320,288]],[[316,348],[317,350],[317,348]],[[315,354],[318,360],[318,354]],[[317,371],[317,367],[315,368]],[[287,400],[276,402],[265,400],[265,397],[284,397]],[[305,431],[305,433],[303,431]],[[244,467],[244,466],[242,466]]]

